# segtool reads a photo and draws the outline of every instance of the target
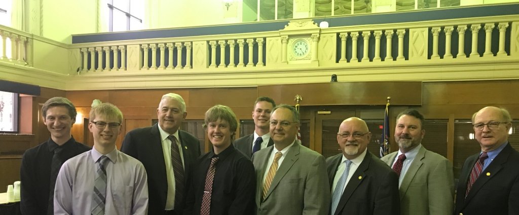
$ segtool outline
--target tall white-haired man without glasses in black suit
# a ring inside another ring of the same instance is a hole
[[[186,118],[180,95],[162,96],[158,124],[127,133],[121,152],[142,162],[148,174],[148,214],[182,214],[193,165],[200,156],[198,139],[179,127]]]

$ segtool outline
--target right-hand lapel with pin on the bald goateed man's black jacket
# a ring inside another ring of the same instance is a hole
[[[346,184],[343,195],[340,196],[339,204],[337,205],[335,214],[339,214],[339,211],[341,211],[341,209],[346,205],[348,199],[351,197],[351,195],[353,195],[355,190],[357,190],[357,187],[360,185],[360,183],[366,178],[364,172],[367,170],[367,167],[370,166],[371,156],[372,155],[370,152],[366,152],[366,156],[362,160],[360,166],[355,172],[353,172],[353,175],[348,181],[348,184]]]

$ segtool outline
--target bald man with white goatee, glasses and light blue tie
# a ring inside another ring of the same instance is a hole
[[[332,191],[332,215],[400,215],[398,176],[366,150],[371,132],[351,117],[339,126],[339,153],[326,159]]]

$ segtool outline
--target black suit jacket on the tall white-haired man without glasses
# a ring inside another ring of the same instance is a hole
[[[200,156],[200,144],[196,137],[183,130],[179,130],[179,139],[182,144],[187,190],[192,181],[193,165]],[[128,132],[122,141],[121,152],[140,160],[146,168],[149,194],[148,214],[163,214],[168,194],[168,179],[158,124]],[[184,193],[183,196],[183,203],[185,203],[186,194]],[[179,211],[179,213],[182,210],[183,208],[175,208],[175,211]]]

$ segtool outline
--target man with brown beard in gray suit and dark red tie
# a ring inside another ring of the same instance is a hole
[[[381,158],[400,176],[402,215],[451,214],[454,209],[453,166],[421,145],[424,116],[407,109],[397,116],[394,131],[400,150]]]

